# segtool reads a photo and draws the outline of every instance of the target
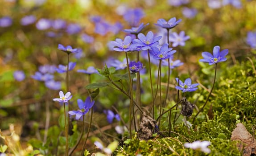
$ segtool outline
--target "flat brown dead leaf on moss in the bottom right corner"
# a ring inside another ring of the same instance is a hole
[[[231,140],[239,140],[242,143],[237,144],[240,151],[243,151],[243,156],[256,155],[255,138],[247,131],[243,123],[237,123],[236,128],[232,131]]]

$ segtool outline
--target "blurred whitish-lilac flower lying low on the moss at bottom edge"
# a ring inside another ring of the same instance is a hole
[[[192,148],[194,150],[199,149],[202,152],[205,153],[210,153],[211,149],[207,148],[211,144],[210,141],[194,141],[193,143],[185,143],[184,147],[185,148]]]

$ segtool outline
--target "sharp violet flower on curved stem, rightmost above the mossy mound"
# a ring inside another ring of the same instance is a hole
[[[219,51],[220,47],[217,45],[213,48],[213,55],[209,52],[202,52],[202,59],[199,62],[207,62],[209,65],[216,64],[218,62],[223,62],[227,60],[225,57],[228,54],[228,49],[224,49],[221,52]]]

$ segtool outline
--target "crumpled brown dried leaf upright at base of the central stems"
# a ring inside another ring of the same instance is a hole
[[[153,129],[156,126],[156,121],[151,116],[146,115],[143,112],[143,116],[140,120],[140,129],[137,131],[139,140],[149,140],[152,138]]]

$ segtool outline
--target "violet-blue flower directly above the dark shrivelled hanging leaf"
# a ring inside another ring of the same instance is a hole
[[[182,93],[187,92],[187,91],[195,91],[198,89],[196,86],[198,86],[199,83],[191,84],[190,78],[187,78],[184,83],[181,80],[179,80],[178,78],[175,78],[175,79],[177,82],[179,82],[178,86],[175,86],[175,88],[178,90],[182,90]]]

